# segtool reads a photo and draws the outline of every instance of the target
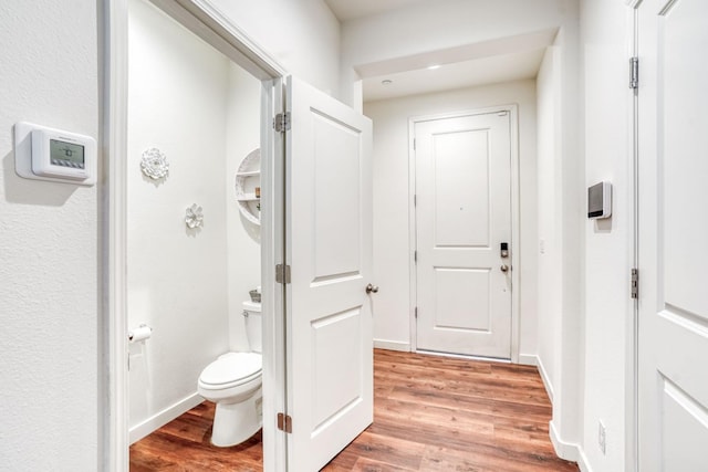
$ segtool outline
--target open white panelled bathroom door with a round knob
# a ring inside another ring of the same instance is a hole
[[[291,471],[316,471],[373,421],[372,123],[288,83],[287,384]]]

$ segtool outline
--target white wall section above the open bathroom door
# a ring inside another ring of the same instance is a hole
[[[289,73],[340,94],[340,22],[323,0],[209,0]]]

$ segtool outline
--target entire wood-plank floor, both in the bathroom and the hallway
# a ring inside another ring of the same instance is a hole
[[[534,367],[376,349],[374,423],[325,472],[577,471],[549,440],[551,405]],[[205,402],[131,447],[131,471],[260,471],[260,433],[210,444]]]

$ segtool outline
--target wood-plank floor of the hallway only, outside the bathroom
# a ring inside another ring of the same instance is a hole
[[[535,367],[377,350],[374,423],[323,470],[577,471]]]

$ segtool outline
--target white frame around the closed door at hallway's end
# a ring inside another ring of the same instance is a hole
[[[413,116],[408,119],[408,271],[410,300],[409,300],[409,318],[410,318],[410,350],[416,352],[418,319],[416,317],[417,306],[417,270],[415,251],[417,248],[416,239],[416,206],[414,199],[416,195],[416,151],[415,151],[415,128],[417,123],[430,122],[436,119],[459,118],[471,115],[485,115],[490,113],[508,112],[509,120],[509,139],[511,150],[511,249],[512,249],[512,271],[511,271],[511,363],[519,364],[519,346],[520,346],[520,274],[521,274],[521,240],[520,240],[520,213],[519,213],[519,106],[517,104],[494,105],[483,108],[472,108],[460,112],[441,113],[433,115]]]

